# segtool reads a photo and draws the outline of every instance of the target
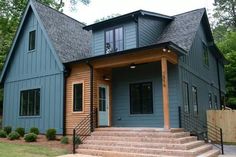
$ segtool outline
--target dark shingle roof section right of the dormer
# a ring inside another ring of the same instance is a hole
[[[204,12],[205,9],[197,9],[175,15],[175,19],[165,28],[157,43],[171,41],[188,52]]]

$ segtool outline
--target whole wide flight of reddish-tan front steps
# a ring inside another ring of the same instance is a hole
[[[183,129],[96,128],[76,153],[103,157],[216,157],[219,150]]]

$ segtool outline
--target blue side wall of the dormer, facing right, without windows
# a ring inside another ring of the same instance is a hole
[[[156,43],[167,22],[161,19],[153,19],[148,17],[138,18],[139,47]]]

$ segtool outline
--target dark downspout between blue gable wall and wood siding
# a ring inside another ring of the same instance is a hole
[[[63,71],[63,136],[66,136],[66,81],[70,75],[70,70],[64,69]]]

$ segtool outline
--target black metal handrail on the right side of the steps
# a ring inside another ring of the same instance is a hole
[[[223,133],[222,128],[209,122],[199,119],[199,117],[191,115],[178,108],[179,111],[179,126],[189,131],[191,135],[197,136],[198,139],[215,145],[221,149],[221,154],[224,154]]]

